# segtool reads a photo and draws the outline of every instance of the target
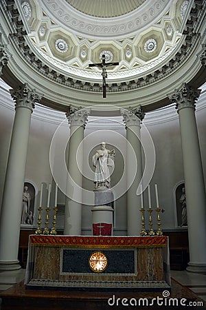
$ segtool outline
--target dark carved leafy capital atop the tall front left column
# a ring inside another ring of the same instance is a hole
[[[26,107],[32,111],[35,107],[34,102],[39,102],[42,98],[35,90],[30,90],[27,83],[20,86],[18,90],[11,89],[10,94],[15,102],[15,109]]]

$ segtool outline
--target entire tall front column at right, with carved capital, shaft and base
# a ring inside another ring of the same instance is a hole
[[[201,151],[196,127],[195,103],[201,90],[183,83],[170,97],[179,114],[190,262],[187,271],[206,272],[206,198]]]

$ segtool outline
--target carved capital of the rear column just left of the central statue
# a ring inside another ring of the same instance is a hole
[[[82,109],[82,107],[79,108],[75,108],[75,107],[71,107],[71,105],[69,105],[69,110],[66,113],[68,122],[71,126],[82,126],[85,128],[86,124],[87,124],[87,118],[89,116],[89,110],[84,110]]]

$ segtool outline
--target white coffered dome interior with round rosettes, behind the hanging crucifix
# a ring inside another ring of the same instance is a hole
[[[106,5],[105,5],[106,3]],[[127,81],[160,68],[179,48],[185,0],[16,1],[30,48],[73,79],[102,80],[102,54],[119,65],[108,81]]]

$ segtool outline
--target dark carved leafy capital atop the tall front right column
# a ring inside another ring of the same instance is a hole
[[[172,103],[176,103],[176,110],[179,112],[179,110],[185,107],[192,107],[195,109],[195,103],[200,94],[201,90],[194,89],[187,83],[183,83],[181,88],[174,90],[174,94],[169,96],[169,99]]]

